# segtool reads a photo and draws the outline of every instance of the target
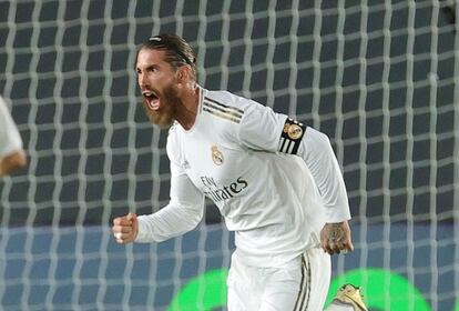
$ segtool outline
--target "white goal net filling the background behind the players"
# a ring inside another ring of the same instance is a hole
[[[356,251],[337,284],[378,310],[459,310],[456,1],[0,2],[0,94],[28,168],[0,180],[0,309],[220,310],[234,249],[215,207],[121,247],[114,217],[169,199],[166,133],[139,104],[136,46],[183,36],[198,80],[327,133]],[[186,309],[187,308],[187,309]]]

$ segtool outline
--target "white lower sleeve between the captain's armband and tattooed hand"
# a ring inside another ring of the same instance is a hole
[[[350,219],[346,185],[328,137],[307,128],[298,149],[322,194],[326,222]]]

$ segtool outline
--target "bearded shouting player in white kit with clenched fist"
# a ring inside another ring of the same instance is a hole
[[[330,254],[354,250],[328,138],[253,100],[198,86],[195,54],[181,37],[144,42],[135,69],[146,116],[169,129],[171,200],[152,214],[115,218],[116,242],[183,234],[202,220],[207,197],[235,232],[228,310],[323,310]]]

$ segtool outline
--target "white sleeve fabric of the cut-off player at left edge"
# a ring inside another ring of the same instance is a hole
[[[7,103],[0,97],[0,158],[22,149],[22,139]]]

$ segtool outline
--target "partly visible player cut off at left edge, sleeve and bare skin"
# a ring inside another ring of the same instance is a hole
[[[22,149],[22,139],[18,127],[7,103],[0,97],[0,177],[11,174],[26,164],[27,157]]]

